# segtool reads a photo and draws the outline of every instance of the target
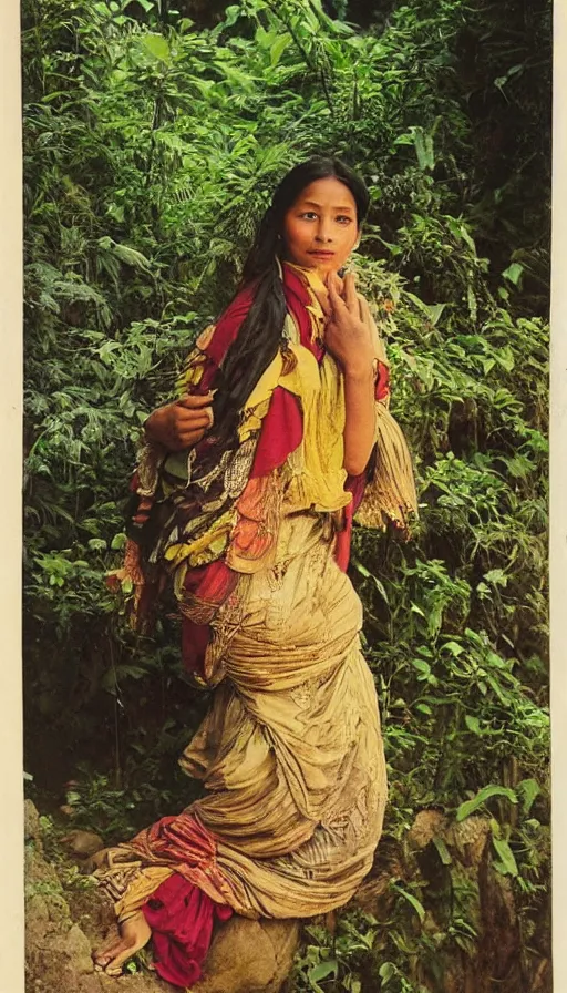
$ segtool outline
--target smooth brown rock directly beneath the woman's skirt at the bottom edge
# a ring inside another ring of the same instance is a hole
[[[298,942],[297,921],[231,918],[213,940],[192,993],[279,993]]]

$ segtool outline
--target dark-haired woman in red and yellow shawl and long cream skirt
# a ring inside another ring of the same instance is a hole
[[[185,663],[217,688],[181,759],[204,798],[97,870],[121,924],[95,954],[109,974],[153,934],[157,971],[190,985],[216,918],[327,912],[372,864],[385,766],[344,570],[354,511],[405,529],[415,491],[383,347],[338,275],[368,202],[337,160],[291,170],[181,399],[146,423],[118,577],[140,614],[173,579]]]

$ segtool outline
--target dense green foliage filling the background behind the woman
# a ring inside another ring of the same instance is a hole
[[[548,863],[549,6],[246,0],[214,27],[166,8],[23,2],[27,768],[55,791],[78,778],[75,822],[109,838],[192,798],[172,769],[206,700],[175,623],[135,638],[104,574],[141,426],[234,291],[270,190],[339,154],[371,193],[355,265],[421,503],[411,544],[354,540],[386,839],[424,806],[489,817],[529,938]],[[298,990],[417,993],[412,962],[472,948],[437,842],[443,933],[396,878],[386,933],[358,912],[312,931]]]

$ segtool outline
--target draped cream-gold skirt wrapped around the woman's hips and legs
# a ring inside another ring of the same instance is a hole
[[[297,918],[344,904],[371,868],[386,777],[361,604],[320,516],[284,518],[276,561],[217,615],[218,686],[181,759],[205,797],[179,829],[198,826],[207,862],[156,847],[152,829],[110,849],[97,874],[121,919],[172,871],[245,917]]]

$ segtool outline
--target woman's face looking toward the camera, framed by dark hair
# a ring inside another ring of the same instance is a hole
[[[348,186],[329,176],[301,191],[284,217],[285,258],[324,279],[347,262],[359,235],[357,204]]]

